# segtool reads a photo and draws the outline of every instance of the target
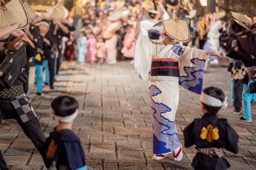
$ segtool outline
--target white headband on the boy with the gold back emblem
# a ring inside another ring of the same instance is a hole
[[[210,105],[211,107],[227,107],[227,96],[225,97],[224,102],[221,102],[218,98],[207,95],[203,92],[200,96],[200,101],[206,105]]]

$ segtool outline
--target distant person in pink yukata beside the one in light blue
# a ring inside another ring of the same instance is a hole
[[[96,54],[97,54],[97,39],[95,37],[95,34],[89,33],[88,34],[88,40],[86,42],[87,45],[87,52],[86,57],[89,60],[89,62],[95,63],[96,60]]]

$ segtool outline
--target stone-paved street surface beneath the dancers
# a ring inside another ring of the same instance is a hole
[[[230,98],[230,73],[226,70],[226,67],[207,68],[204,86],[220,87]],[[51,100],[61,94],[70,94],[79,101],[81,114],[73,130],[82,141],[88,169],[192,169],[194,147],[184,148],[180,162],[174,162],[172,156],[161,161],[151,159],[148,83],[138,79],[128,61],[119,62],[116,66],[67,66],[57,77],[56,90],[51,91],[45,86],[42,96],[35,95],[31,81],[32,105],[46,136],[57,125],[49,116]],[[233,115],[232,109],[228,107],[219,114],[228,119],[240,136],[239,153],[235,155],[225,151],[232,165],[230,169],[255,169],[256,104],[252,107],[252,123],[238,122],[240,115]],[[176,122],[181,141],[185,126],[200,116],[199,95],[180,88]],[[12,170],[46,169],[38,151],[14,120],[3,122],[0,148],[4,150],[4,157]]]

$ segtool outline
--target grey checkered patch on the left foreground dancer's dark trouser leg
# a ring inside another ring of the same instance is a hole
[[[26,97],[26,94],[10,97],[10,100],[19,117],[21,117],[23,123],[28,122],[30,119],[37,116],[31,107],[30,101],[28,97]]]

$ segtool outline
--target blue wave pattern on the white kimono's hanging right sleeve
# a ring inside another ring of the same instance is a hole
[[[184,67],[187,76],[179,77],[179,85],[194,93],[201,94],[203,89],[203,75],[205,60],[193,58],[190,60],[196,67]]]

